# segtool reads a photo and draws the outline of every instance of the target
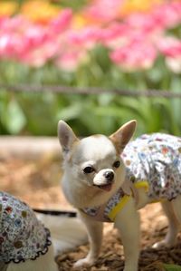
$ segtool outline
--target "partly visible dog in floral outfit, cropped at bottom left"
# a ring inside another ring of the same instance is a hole
[[[57,271],[50,231],[23,201],[0,191],[0,270]]]

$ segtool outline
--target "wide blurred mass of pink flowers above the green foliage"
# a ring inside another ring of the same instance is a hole
[[[2,17],[0,57],[35,67],[52,60],[71,71],[87,60],[94,46],[102,44],[110,49],[111,60],[127,71],[151,67],[157,52],[176,63],[180,59],[180,41],[167,39],[166,31],[180,24],[181,2],[157,5],[148,14],[131,14],[120,21],[123,2],[91,1],[81,10],[87,23],[80,29],[74,27],[69,8],[62,9],[48,24],[33,23],[21,15]]]

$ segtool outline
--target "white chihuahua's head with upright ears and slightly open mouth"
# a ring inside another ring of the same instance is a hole
[[[121,169],[124,168],[120,153],[135,128],[136,121],[129,121],[110,137],[92,135],[79,140],[67,123],[59,121],[58,137],[64,167],[70,178],[88,187],[110,191],[119,182]]]

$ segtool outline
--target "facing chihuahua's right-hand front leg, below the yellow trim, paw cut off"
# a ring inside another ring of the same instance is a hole
[[[115,219],[119,229],[125,254],[124,271],[138,270],[139,255],[139,216],[133,198],[122,208]]]

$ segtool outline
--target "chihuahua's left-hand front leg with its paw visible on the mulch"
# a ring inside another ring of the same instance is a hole
[[[87,215],[84,214],[80,214],[80,216],[88,231],[90,251],[85,258],[82,258],[75,263],[75,268],[94,265],[100,254],[100,247],[102,241],[103,223],[91,220],[91,218],[87,217]]]

